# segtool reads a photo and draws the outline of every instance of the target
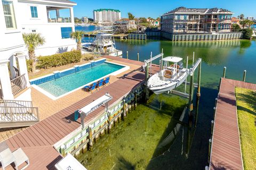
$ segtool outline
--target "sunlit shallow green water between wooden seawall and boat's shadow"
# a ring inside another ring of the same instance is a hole
[[[162,109],[159,110],[162,101]],[[145,169],[150,160],[171,146],[159,147],[177,125],[187,100],[171,95],[152,95],[147,104],[117,123],[103,135],[93,150],[78,156],[87,169]]]

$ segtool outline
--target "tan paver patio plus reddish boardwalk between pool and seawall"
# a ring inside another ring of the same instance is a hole
[[[54,165],[62,156],[53,148],[53,145],[81,126],[79,123],[81,122],[80,118],[77,121],[73,121],[73,113],[77,109],[90,104],[93,100],[106,94],[106,92],[113,96],[109,104],[111,105],[129,94],[133,88],[145,80],[145,73],[134,71],[141,67],[142,62],[111,56],[103,57],[108,58],[108,61],[111,60],[111,62],[129,65],[130,70],[115,77],[111,76],[110,84],[93,92],[93,94],[77,90],[58,100],[52,100],[36,89],[31,88],[33,103],[39,107],[41,121],[26,129],[16,129],[15,132],[17,134],[3,141],[7,143],[12,151],[22,148],[30,162],[26,169],[55,169]],[[154,65],[153,70],[157,71],[159,67]],[[123,74],[129,72],[132,73],[123,78]],[[85,124],[93,121],[104,109],[105,107],[101,106],[90,113],[85,118]],[[14,168],[10,165],[6,169]]]

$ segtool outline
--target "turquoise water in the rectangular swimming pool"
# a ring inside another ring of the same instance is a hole
[[[121,65],[103,63],[77,73],[68,74],[56,80],[38,84],[37,86],[58,97],[122,68],[123,66]]]

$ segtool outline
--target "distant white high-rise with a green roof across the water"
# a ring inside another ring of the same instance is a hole
[[[121,20],[121,12],[113,9],[93,10],[94,22],[115,22]]]

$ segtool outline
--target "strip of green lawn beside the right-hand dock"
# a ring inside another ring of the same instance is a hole
[[[239,133],[245,170],[256,166],[256,92],[236,88]]]

